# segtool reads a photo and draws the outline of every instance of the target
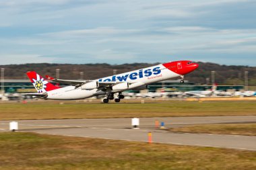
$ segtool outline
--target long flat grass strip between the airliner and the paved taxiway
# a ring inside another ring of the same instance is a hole
[[[252,116],[256,101],[164,103],[81,103],[42,101],[0,103],[0,120],[67,119],[67,118],[132,118],[167,116]]]

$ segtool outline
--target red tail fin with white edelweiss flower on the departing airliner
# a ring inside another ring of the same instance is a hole
[[[30,81],[33,83],[36,90],[38,91],[38,93],[44,93],[46,91],[59,89],[59,87],[56,87],[55,85],[44,80],[44,78],[38,75],[35,71],[30,71],[27,73],[27,75]]]

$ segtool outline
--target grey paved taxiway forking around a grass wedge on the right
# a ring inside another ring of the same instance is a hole
[[[190,124],[255,123],[256,116],[140,118],[140,126],[137,130],[131,128],[131,118],[20,120],[18,122],[19,131],[23,132],[141,142],[146,142],[148,132],[152,132],[153,142],[256,151],[256,136],[172,133],[156,129],[155,120],[164,122],[166,128],[170,128]],[[9,122],[0,122],[0,132],[8,130]]]

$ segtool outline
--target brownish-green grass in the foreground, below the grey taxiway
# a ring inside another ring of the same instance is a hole
[[[256,152],[0,133],[0,169],[256,169]]]

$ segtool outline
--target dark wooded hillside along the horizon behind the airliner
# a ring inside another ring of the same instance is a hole
[[[185,76],[185,79],[193,82],[205,84],[207,78],[211,78],[211,71],[216,71],[216,83],[222,85],[244,85],[245,71],[249,71],[249,85],[256,85],[256,67],[247,66],[227,66],[218,65],[210,62],[198,62],[199,68],[193,73]],[[69,64],[26,64],[26,65],[1,65],[5,68],[5,79],[27,79],[27,71],[36,71],[40,75],[52,75],[56,77],[56,69],[60,69],[61,79],[80,79],[80,72],[84,72],[84,79],[98,79],[113,75],[113,70],[117,73],[124,73],[135,69],[150,67],[154,64],[133,63],[123,65],[86,64],[86,65],[69,65]],[[211,82],[211,79],[210,79]]]

